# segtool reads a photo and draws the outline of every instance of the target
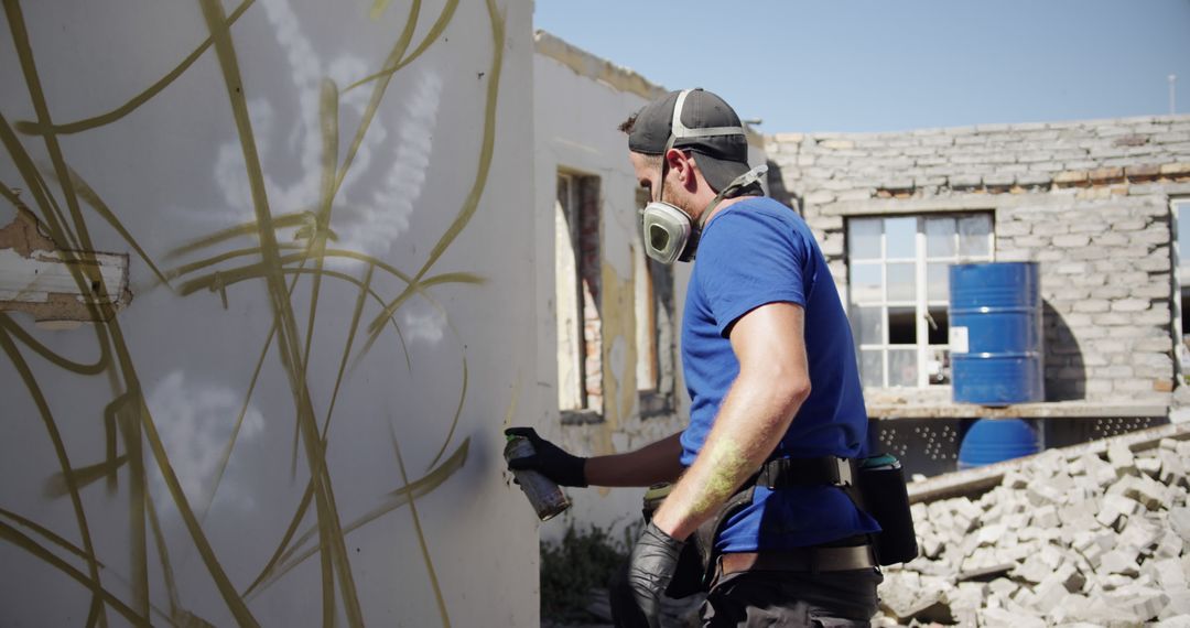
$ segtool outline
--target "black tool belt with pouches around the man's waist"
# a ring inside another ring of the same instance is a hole
[[[881,525],[882,532],[860,539],[851,547],[804,547],[785,552],[744,552],[720,554],[715,550],[727,520],[752,503],[756,486],[782,490],[794,486],[835,486]],[[660,505],[672,486],[660,484],[645,494],[645,521]],[[909,514],[904,475],[896,458],[884,454],[864,459],[823,456],[777,458],[720,507],[691,536],[678,558],[674,580],[665,595],[685,597],[709,590],[719,578],[740,571],[844,571],[891,565],[917,555],[916,535]]]

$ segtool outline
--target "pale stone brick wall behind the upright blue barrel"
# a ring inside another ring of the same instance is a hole
[[[1041,263],[1047,398],[1167,401],[1171,197],[1190,196],[1190,115],[769,138],[835,281],[846,219],[994,212],[997,260]]]

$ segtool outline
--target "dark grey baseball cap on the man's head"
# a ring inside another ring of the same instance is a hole
[[[681,115],[675,119],[678,103]],[[749,171],[747,137],[739,115],[702,88],[670,92],[637,113],[628,150],[664,155],[669,147],[696,153],[694,161],[715,191]]]

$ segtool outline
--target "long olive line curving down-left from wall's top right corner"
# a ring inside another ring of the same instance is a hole
[[[401,296],[394,300],[394,304],[402,301],[402,296],[412,293],[426,272],[438,262],[438,258],[446,251],[446,249],[455,241],[463,228],[466,227],[468,222],[475,215],[476,209],[480,206],[480,197],[483,195],[483,189],[488,182],[488,172],[491,168],[491,157],[495,147],[495,136],[496,136],[496,101],[500,95],[500,73],[503,67],[503,52],[505,52],[505,21],[503,18],[496,12],[496,6],[493,0],[487,1],[488,15],[491,20],[491,68],[488,74],[488,94],[487,105],[484,107],[483,115],[483,140],[480,147],[480,165],[478,171],[475,176],[475,182],[471,186],[471,190],[463,202],[458,215],[455,216],[455,221],[446,228],[443,237],[434,244],[434,247],[430,252],[430,257],[422,264],[421,270],[414,275],[413,281],[406,287]],[[407,297],[407,296],[406,296]],[[368,326],[369,339],[368,346],[371,346],[376,338],[380,335],[380,328],[383,324],[383,319],[390,316],[396,308],[394,304],[389,304],[384,308],[384,312],[377,316],[371,325]]]

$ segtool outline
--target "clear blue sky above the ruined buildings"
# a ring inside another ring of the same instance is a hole
[[[534,29],[765,133],[1190,113],[1190,0],[536,0]]]

